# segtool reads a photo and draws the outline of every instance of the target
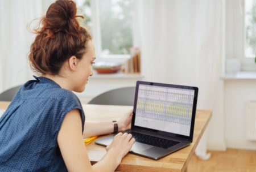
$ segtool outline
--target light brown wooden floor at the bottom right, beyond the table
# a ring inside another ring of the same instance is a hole
[[[188,172],[256,172],[256,151],[227,149],[225,152],[209,151],[210,160],[199,160],[195,155],[188,165]]]

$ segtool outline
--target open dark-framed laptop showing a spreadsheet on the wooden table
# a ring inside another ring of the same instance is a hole
[[[197,87],[137,81],[130,152],[158,160],[192,143]],[[125,97],[124,97],[125,98]],[[109,145],[114,135],[95,141]]]

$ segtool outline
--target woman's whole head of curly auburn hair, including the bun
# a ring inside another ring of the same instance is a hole
[[[90,33],[81,27],[77,17],[76,3],[57,0],[35,29],[36,38],[30,48],[28,59],[32,70],[39,74],[59,74],[63,63],[72,55],[81,59],[86,53],[86,43],[92,40]]]

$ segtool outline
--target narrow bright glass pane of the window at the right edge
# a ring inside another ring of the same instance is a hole
[[[254,58],[256,52],[256,1],[245,1],[245,57]]]

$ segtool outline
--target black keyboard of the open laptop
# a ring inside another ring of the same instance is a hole
[[[178,141],[167,140],[167,139],[162,139],[160,137],[139,134],[138,132],[132,132],[131,134],[133,135],[134,139],[139,143],[149,144],[149,145],[153,145],[153,146],[164,148],[164,149],[170,148],[179,143]]]

